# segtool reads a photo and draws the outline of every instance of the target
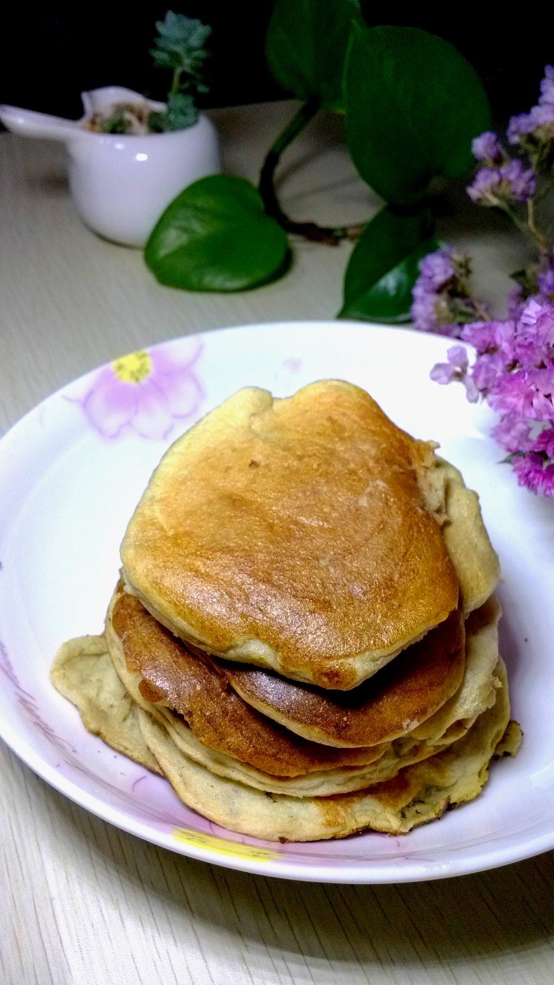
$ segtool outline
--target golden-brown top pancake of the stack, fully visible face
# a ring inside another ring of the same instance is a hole
[[[127,587],[215,655],[353,688],[457,608],[437,468],[351,384],[240,390],[155,470]]]

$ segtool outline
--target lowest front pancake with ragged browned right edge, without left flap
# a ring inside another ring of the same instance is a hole
[[[424,762],[407,766],[392,780],[335,797],[267,794],[221,779],[183,755],[154,719],[140,713],[144,740],[163,773],[188,807],[222,827],[272,841],[343,838],[372,829],[405,834],[440,818],[447,808],[473,800],[482,790],[497,747],[515,755],[519,727],[509,729],[506,672],[499,664],[502,688],[459,742]]]

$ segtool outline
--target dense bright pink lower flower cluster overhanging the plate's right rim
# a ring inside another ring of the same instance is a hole
[[[518,319],[464,325],[461,337],[475,348],[473,364],[453,346],[431,378],[461,380],[468,400],[484,398],[520,485],[554,495],[554,304],[530,300]]]

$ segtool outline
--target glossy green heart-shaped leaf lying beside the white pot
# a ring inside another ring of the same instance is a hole
[[[160,284],[244,291],[284,273],[288,242],[254,186],[215,174],[185,188],[158,220],[145,260]]]

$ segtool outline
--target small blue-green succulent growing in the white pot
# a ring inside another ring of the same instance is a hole
[[[154,68],[170,69],[173,75],[166,109],[149,113],[146,125],[151,133],[185,130],[198,120],[197,96],[210,92],[206,62],[210,58],[207,44],[212,28],[168,10],[163,21],[155,22],[155,30],[154,47],[150,51]],[[116,112],[102,121],[104,133],[128,133],[131,129],[133,107],[116,108]]]

